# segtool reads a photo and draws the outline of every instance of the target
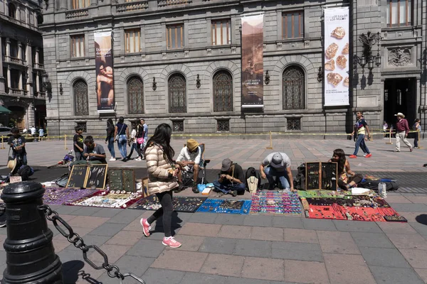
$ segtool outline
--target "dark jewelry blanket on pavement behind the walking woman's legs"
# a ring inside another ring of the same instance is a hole
[[[176,212],[196,212],[199,209],[200,205],[205,202],[208,197],[184,197],[184,196],[174,196],[172,198],[172,204]],[[162,205],[160,205],[159,200],[156,195],[150,195],[148,197],[138,200],[131,209],[140,209],[140,210],[157,210]]]

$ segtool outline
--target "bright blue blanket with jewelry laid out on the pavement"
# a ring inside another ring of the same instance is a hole
[[[251,200],[216,200],[208,198],[197,209],[197,212],[249,214]]]

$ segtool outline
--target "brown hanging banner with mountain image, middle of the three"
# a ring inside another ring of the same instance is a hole
[[[242,17],[242,107],[263,107],[263,14]]]

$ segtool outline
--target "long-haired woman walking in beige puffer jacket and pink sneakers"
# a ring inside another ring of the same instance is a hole
[[[178,187],[176,175],[179,169],[173,164],[175,151],[170,146],[172,129],[169,124],[160,124],[154,131],[152,138],[147,141],[147,147],[143,153],[147,160],[148,170],[148,192],[155,194],[162,207],[157,209],[148,219],[142,218],[140,223],[144,236],[150,236],[151,224],[163,217],[164,238],[162,244],[173,249],[179,248],[181,244],[172,236],[172,192]]]

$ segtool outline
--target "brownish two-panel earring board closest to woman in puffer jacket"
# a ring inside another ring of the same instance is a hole
[[[110,185],[110,190],[136,192],[135,170],[132,168],[108,169],[108,184]]]

